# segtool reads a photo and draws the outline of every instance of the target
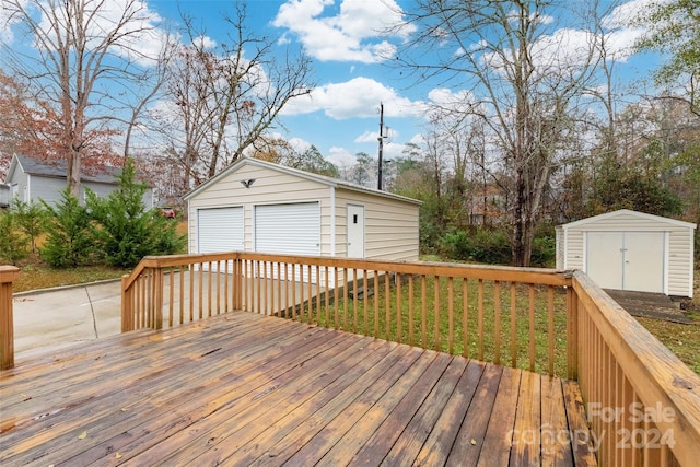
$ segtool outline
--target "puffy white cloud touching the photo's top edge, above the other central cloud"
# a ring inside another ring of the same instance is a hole
[[[343,0],[335,16],[324,16],[332,0],[289,0],[282,4],[272,25],[298,35],[308,55],[322,61],[373,63],[390,57],[396,46],[385,37],[387,27],[401,23],[394,0]],[[413,31],[402,27],[400,36]]]

